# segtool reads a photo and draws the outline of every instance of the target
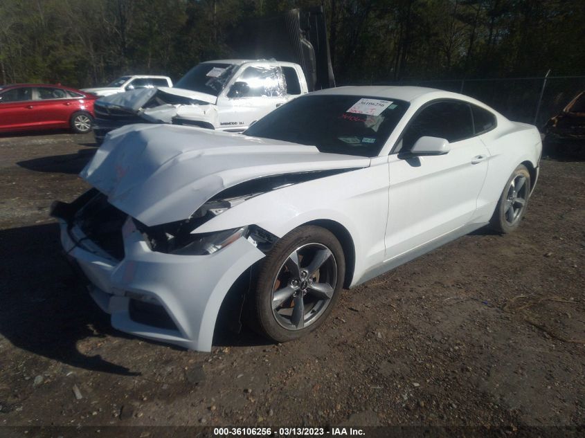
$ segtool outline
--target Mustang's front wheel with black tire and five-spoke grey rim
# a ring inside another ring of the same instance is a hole
[[[329,254],[327,250],[330,255],[327,255]],[[289,259],[289,256],[294,258],[293,253],[297,254],[298,264]],[[323,262],[319,264],[321,259]],[[309,278],[305,268],[310,268],[309,264],[312,262],[314,266],[319,267]],[[293,269],[289,266],[293,266]],[[296,266],[300,271],[297,271],[298,275],[292,275]],[[305,336],[323,324],[331,313],[341,295],[344,277],[343,248],[332,232],[318,226],[301,226],[292,230],[276,242],[260,267],[255,290],[248,300],[251,327],[276,342],[286,342]],[[283,286],[285,282],[287,286]],[[294,286],[295,282],[298,287]],[[301,289],[303,285],[305,289]],[[273,292],[295,287],[296,292],[291,295],[289,301],[285,300],[282,305],[273,309],[273,300],[278,302],[281,296],[273,295]],[[312,289],[317,287],[319,290]],[[330,298],[325,298],[321,289],[331,293]],[[302,312],[296,313],[294,307],[297,302],[302,303],[297,306],[297,309],[303,310]],[[298,317],[300,313],[303,313],[300,317],[302,323]],[[298,321],[296,327],[295,320]]]

